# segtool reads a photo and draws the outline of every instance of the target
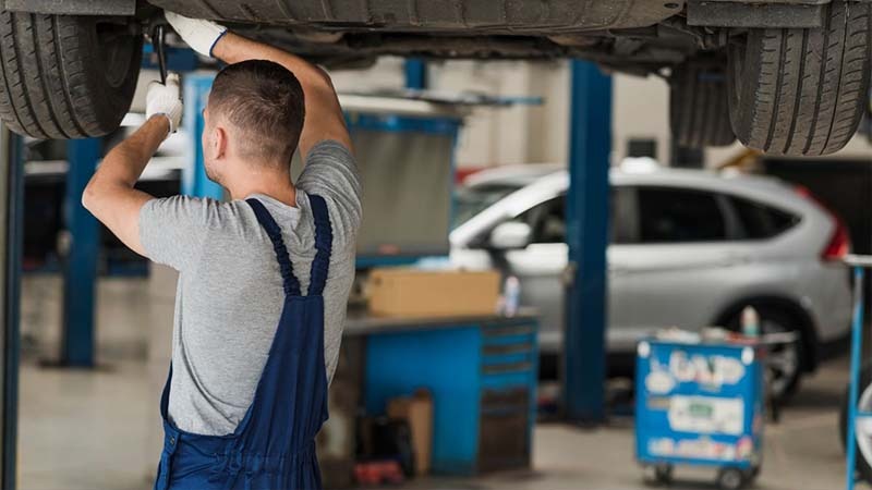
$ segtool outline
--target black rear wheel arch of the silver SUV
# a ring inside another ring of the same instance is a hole
[[[803,371],[811,372],[818,367],[818,329],[810,313],[796,299],[777,294],[749,295],[731,302],[715,317],[711,324],[728,326],[730,320],[741,314],[746,306],[776,308],[796,319],[802,335]]]

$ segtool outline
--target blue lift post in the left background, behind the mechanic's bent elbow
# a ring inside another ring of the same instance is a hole
[[[70,247],[63,267],[62,366],[94,366],[94,304],[97,291],[97,255],[100,228],[82,207],[85,189],[102,154],[99,138],[71,139],[66,144],[66,195],[64,215]]]

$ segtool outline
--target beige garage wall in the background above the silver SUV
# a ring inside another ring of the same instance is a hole
[[[331,74],[339,90],[399,87],[400,59],[385,59],[365,72]],[[565,61],[446,61],[432,63],[429,84],[446,91],[472,90],[499,96],[543,97],[542,106],[480,108],[462,133],[458,164],[489,167],[564,162],[568,157],[569,65]],[[613,160],[619,161],[630,138],[654,138],[658,157],[668,158],[667,95],[661,79],[617,75],[613,107]]]

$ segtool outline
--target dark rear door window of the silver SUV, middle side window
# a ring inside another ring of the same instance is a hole
[[[727,240],[715,194],[685,188],[637,187],[638,243],[699,243]]]

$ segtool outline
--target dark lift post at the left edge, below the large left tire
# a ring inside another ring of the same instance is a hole
[[[14,489],[17,469],[19,440],[19,354],[21,351],[20,308],[21,308],[21,262],[24,242],[24,142],[7,128],[2,148],[5,173],[5,221],[3,257],[3,422],[2,422],[2,468],[0,485]]]

